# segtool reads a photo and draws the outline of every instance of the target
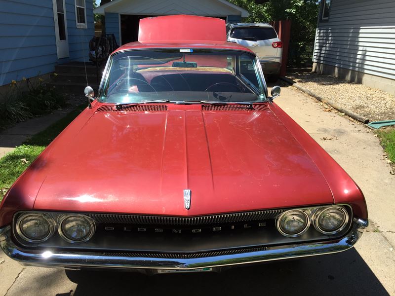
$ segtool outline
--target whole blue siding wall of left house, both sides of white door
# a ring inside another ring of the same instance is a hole
[[[87,29],[77,29],[75,0],[65,2],[70,56],[58,60],[52,0],[0,0],[0,86],[53,72],[58,63],[88,59],[92,1],[85,0]]]

